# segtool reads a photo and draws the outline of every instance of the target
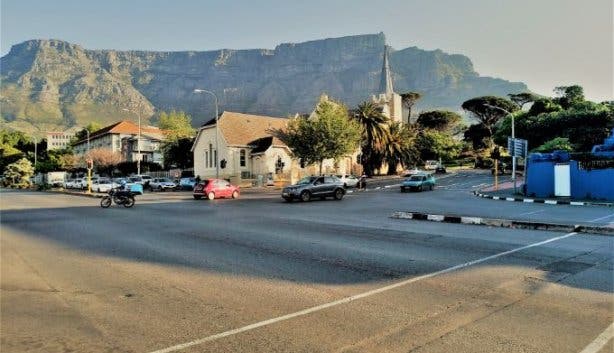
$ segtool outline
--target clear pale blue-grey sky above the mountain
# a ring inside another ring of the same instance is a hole
[[[538,94],[579,84],[614,99],[612,0],[1,0],[0,11],[2,56],[29,39],[204,51],[384,32],[394,49],[463,54]]]

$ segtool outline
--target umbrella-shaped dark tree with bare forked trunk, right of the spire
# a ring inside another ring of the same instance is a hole
[[[494,134],[495,124],[501,120],[508,111],[513,113],[520,108],[514,102],[494,96],[483,96],[469,99],[462,104],[462,108],[470,113],[484,126],[488,131],[487,144],[491,148],[493,146],[492,136]]]

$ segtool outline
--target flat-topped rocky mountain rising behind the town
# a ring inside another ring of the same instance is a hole
[[[109,124],[155,111],[189,112],[195,125],[220,112],[287,116],[313,109],[322,93],[349,107],[377,93],[383,33],[206,52],[87,50],[61,40],[30,40],[0,59],[2,119],[36,132]],[[523,83],[482,77],[463,55],[416,47],[390,51],[396,92],[418,91],[418,109],[460,109],[480,95],[526,91]],[[132,112],[126,112],[129,109]]]

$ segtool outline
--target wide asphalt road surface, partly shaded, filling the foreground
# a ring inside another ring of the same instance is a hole
[[[444,180],[309,203],[156,193],[132,209],[2,190],[0,351],[613,351],[614,237],[389,218],[537,206]]]

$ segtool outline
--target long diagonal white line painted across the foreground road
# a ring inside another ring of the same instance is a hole
[[[565,235],[561,235],[561,236],[558,236],[558,237],[550,238],[550,239],[547,239],[547,240],[544,240],[544,241],[540,241],[540,242],[537,242],[537,243],[532,243],[532,244],[529,244],[529,245],[521,246],[519,248],[515,248],[515,249],[512,249],[512,250],[503,251],[503,252],[500,252],[500,253],[497,253],[497,254],[494,254],[494,255],[483,257],[481,259],[477,259],[477,260],[465,262],[465,263],[460,264],[460,265],[448,267],[446,269],[443,269],[443,270],[440,270],[440,271],[437,271],[437,272],[432,272],[432,273],[428,273],[428,274],[425,274],[425,275],[422,275],[422,276],[413,277],[413,278],[410,278],[410,279],[407,279],[407,280],[404,280],[404,281],[401,281],[401,282],[398,282],[398,283],[394,283],[394,284],[391,284],[391,285],[388,285],[388,286],[385,286],[385,287],[373,289],[373,290],[370,290],[370,291],[367,291],[367,292],[364,292],[364,293],[360,293],[360,294],[356,294],[356,295],[353,295],[353,296],[350,296],[350,297],[346,297],[346,298],[342,298],[342,299],[339,299],[339,300],[335,300],[333,302],[329,302],[329,303],[326,303],[326,304],[314,306],[314,307],[311,307],[311,308],[307,308],[307,309],[304,309],[304,310],[300,310],[300,311],[297,311],[297,312],[294,312],[294,313],[290,313],[290,314],[287,314],[287,315],[279,316],[279,317],[272,318],[272,319],[269,319],[269,320],[264,320],[264,321],[256,322],[256,323],[253,323],[251,325],[247,325],[247,326],[236,328],[234,330],[229,330],[229,331],[221,332],[221,333],[218,333],[218,334],[215,334],[215,335],[207,336],[207,337],[200,338],[200,339],[197,339],[197,340],[194,340],[194,341],[190,341],[190,342],[186,342],[186,343],[181,343],[181,344],[178,344],[178,345],[175,345],[175,346],[171,346],[171,347],[168,347],[168,348],[160,349],[160,350],[153,351],[153,352],[150,352],[150,353],[170,353],[170,352],[175,352],[175,351],[179,351],[179,350],[182,350],[182,349],[185,349],[185,348],[189,348],[189,347],[193,347],[193,346],[196,346],[196,345],[200,345],[200,344],[203,344],[203,343],[206,343],[206,342],[215,341],[215,340],[218,340],[220,338],[224,338],[224,337],[228,337],[228,336],[233,336],[233,335],[236,335],[236,334],[239,334],[239,333],[242,333],[242,332],[246,332],[246,331],[251,331],[251,330],[254,330],[254,329],[259,328],[259,327],[272,325],[272,324],[275,324],[275,323],[280,322],[280,321],[286,321],[286,320],[293,319],[295,317],[305,316],[305,315],[308,315],[308,314],[311,314],[311,313],[314,313],[314,312],[317,312],[317,311],[321,311],[321,310],[324,310],[324,309],[332,308],[334,306],[338,306],[338,305],[341,305],[341,304],[347,304],[349,302],[352,302],[352,301],[355,301],[355,300],[358,300],[358,299],[363,299],[363,298],[370,297],[370,296],[373,296],[373,295],[376,295],[376,294],[379,294],[379,293],[387,292],[389,290],[396,289],[396,288],[399,288],[399,287],[402,287],[402,286],[405,286],[405,285],[408,285],[408,284],[411,284],[411,283],[414,283],[414,282],[418,282],[418,281],[421,281],[421,280],[424,280],[424,279],[428,279],[428,278],[432,278],[432,277],[435,277],[435,276],[443,275],[445,273],[449,273],[449,272],[453,272],[453,271],[456,271],[456,270],[460,270],[460,269],[463,269],[465,267],[477,265],[477,264],[480,264],[480,263],[485,262],[485,261],[489,261],[489,260],[492,260],[492,259],[499,258],[501,256],[513,254],[513,253],[516,253],[516,252],[519,252],[519,251],[522,251],[522,250],[526,250],[526,249],[530,249],[530,248],[533,248],[533,247],[536,247],[536,246],[548,244],[548,243],[551,243],[551,242],[554,242],[554,241],[557,241],[557,240],[569,238],[569,237],[574,236],[576,234],[577,233],[575,233],[575,232],[568,233],[568,234],[565,234]]]

